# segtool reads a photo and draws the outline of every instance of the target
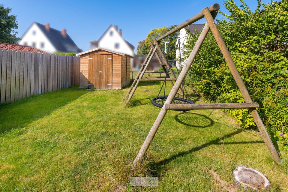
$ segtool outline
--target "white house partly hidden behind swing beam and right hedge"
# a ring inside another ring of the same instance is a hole
[[[190,32],[192,34],[196,34],[196,33],[201,32],[203,27],[204,27],[204,25],[202,25],[202,24],[191,24],[189,26],[189,30],[190,30]],[[188,26],[186,26],[183,29],[181,29],[179,34],[178,34],[178,36],[177,36],[177,40],[176,40],[176,46],[177,46],[177,49],[176,49],[176,59],[177,59],[176,65],[177,65],[178,68],[180,68],[180,62],[179,62],[180,55],[179,55],[178,42],[179,42],[179,39],[180,39],[181,58],[183,58],[184,57],[183,53],[185,51],[184,45],[187,44],[187,38],[188,38],[187,30],[188,30]],[[185,64],[185,61],[182,61],[182,65],[184,65],[184,64]]]

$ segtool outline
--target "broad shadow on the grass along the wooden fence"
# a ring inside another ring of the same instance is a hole
[[[0,134],[43,118],[53,111],[76,100],[87,91],[76,87],[51,91],[43,95],[33,95],[13,103],[0,105]]]

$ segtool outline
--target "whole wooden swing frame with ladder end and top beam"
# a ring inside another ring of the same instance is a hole
[[[205,7],[204,9],[202,9],[202,12],[196,14],[195,16],[191,17],[190,19],[187,19],[185,22],[181,23],[180,25],[176,26],[174,29],[170,30],[169,32],[167,32],[166,34],[162,35],[161,37],[157,38],[156,40],[154,40],[154,45],[151,43],[151,49],[149,54],[147,55],[139,73],[137,74],[132,86],[130,87],[126,97],[128,97],[128,100],[126,102],[126,104],[131,100],[137,85],[139,84],[139,81],[142,79],[143,74],[145,73],[151,59],[153,58],[153,55],[155,54],[156,57],[158,58],[158,60],[160,61],[162,67],[164,68],[164,70],[166,71],[166,68],[164,67],[164,64],[167,62],[166,58],[164,57],[163,52],[161,51],[158,43],[163,40],[164,38],[170,36],[171,34],[183,29],[185,26],[188,26],[196,21],[198,21],[199,19],[202,19],[205,17],[206,19],[206,24],[204,26],[204,28],[202,29],[201,34],[199,35],[198,40],[196,41],[196,44],[194,45],[181,73],[179,74],[179,77],[177,78],[175,84],[173,85],[173,82],[170,80],[172,87],[172,90],[170,91],[170,94],[167,97],[167,100],[165,101],[163,107],[161,108],[161,111],[157,117],[157,119],[155,120],[151,130],[149,131],[149,134],[146,137],[146,140],[144,141],[137,157],[135,158],[133,165],[138,164],[143,156],[145,155],[147,149],[150,146],[150,143],[152,142],[159,126],[161,125],[162,120],[164,119],[166,113],[168,110],[193,110],[193,109],[249,109],[258,129],[259,132],[268,148],[268,151],[271,155],[271,157],[274,159],[275,162],[277,162],[278,164],[281,163],[281,159],[273,145],[273,143],[271,142],[271,139],[265,129],[265,126],[256,110],[256,108],[259,108],[259,104],[258,103],[253,103],[247,88],[243,82],[243,80],[241,79],[241,76],[235,66],[235,63],[226,47],[226,44],[223,41],[223,38],[220,35],[220,32],[214,22],[214,18],[217,15],[217,12],[219,10],[220,6],[219,4],[213,4],[210,7]],[[226,63],[228,64],[228,67],[230,69],[230,72],[232,73],[232,76],[235,79],[235,82],[244,98],[245,103],[226,103],[226,104],[171,104],[171,102],[173,101],[173,98],[176,96],[178,90],[181,89],[181,85],[182,82],[185,78],[185,76],[188,73],[189,68],[191,67],[209,29],[211,30],[211,32],[213,33],[213,36],[223,54],[223,57],[225,58]],[[162,58],[161,58],[161,57]],[[166,64],[165,64],[166,66]],[[173,74],[173,72],[171,73]],[[173,74],[174,75],[174,74]],[[172,76],[173,76],[172,75]],[[176,77],[173,76],[173,80]],[[132,91],[132,92],[131,92]],[[131,94],[130,94],[131,93]]]

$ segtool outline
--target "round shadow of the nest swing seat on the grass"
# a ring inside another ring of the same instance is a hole
[[[182,125],[194,128],[206,128],[214,125],[214,121],[211,118],[192,112],[179,113],[174,117],[174,119]]]

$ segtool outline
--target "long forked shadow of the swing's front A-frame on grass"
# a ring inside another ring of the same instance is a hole
[[[222,137],[222,140],[225,140],[226,138],[229,138],[229,137],[232,137],[236,134],[239,134],[241,133],[242,131],[244,130],[237,130],[237,131],[234,131],[230,134],[227,134],[225,136]],[[223,142],[224,145],[231,145],[231,144],[256,144],[256,143],[264,143],[263,141],[239,141],[239,142]],[[173,161],[174,159],[176,158],[179,158],[179,157],[184,157],[185,155],[188,155],[190,153],[193,153],[193,152],[196,152],[196,151],[199,151],[201,149],[204,149],[208,146],[211,146],[211,145],[221,145],[221,141],[220,141],[220,138],[217,138],[217,139],[214,139],[214,140],[211,140],[207,143],[204,143],[203,145],[201,146],[197,146],[197,147],[194,147],[192,149],[189,149],[187,151],[184,151],[184,152],[179,152],[175,155],[172,155],[170,156],[169,158],[167,159],[164,159],[164,160],[161,160],[161,161],[158,161],[158,162],[154,162],[151,164],[151,166],[153,167],[154,170],[159,170],[159,168],[162,166],[162,165],[166,165],[168,163],[170,163],[171,161]],[[160,173],[160,172],[158,172]]]

